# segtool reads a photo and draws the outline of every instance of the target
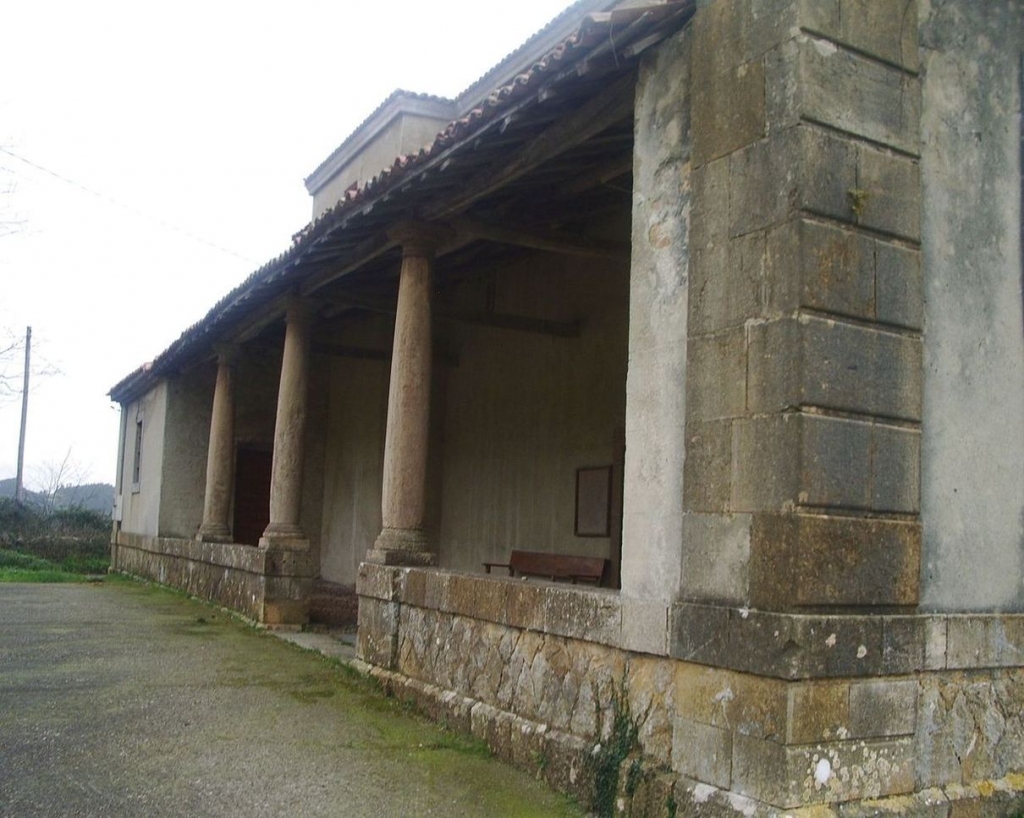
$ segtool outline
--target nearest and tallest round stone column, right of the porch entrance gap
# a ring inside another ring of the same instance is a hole
[[[423,530],[430,427],[430,289],[434,250],[441,238],[428,225],[393,231],[401,244],[401,277],[394,324],[391,385],[384,444],[383,530],[368,562],[431,565]]]

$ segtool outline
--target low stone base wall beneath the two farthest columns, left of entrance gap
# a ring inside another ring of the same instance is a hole
[[[120,531],[111,544],[111,567],[180,588],[265,625],[302,625],[307,618],[312,574],[303,552]]]

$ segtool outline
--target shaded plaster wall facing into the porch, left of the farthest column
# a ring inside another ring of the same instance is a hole
[[[161,536],[193,537],[203,522],[215,377],[215,364],[208,363],[167,382]]]

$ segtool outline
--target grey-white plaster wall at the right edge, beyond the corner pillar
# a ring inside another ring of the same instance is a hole
[[[1024,609],[1024,4],[921,0],[922,604]]]

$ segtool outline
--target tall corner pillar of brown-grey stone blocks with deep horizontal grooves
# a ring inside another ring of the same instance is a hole
[[[920,598],[915,3],[693,18],[680,598]],[[729,48],[720,47],[730,43]],[[856,101],[851,101],[856,100]]]

